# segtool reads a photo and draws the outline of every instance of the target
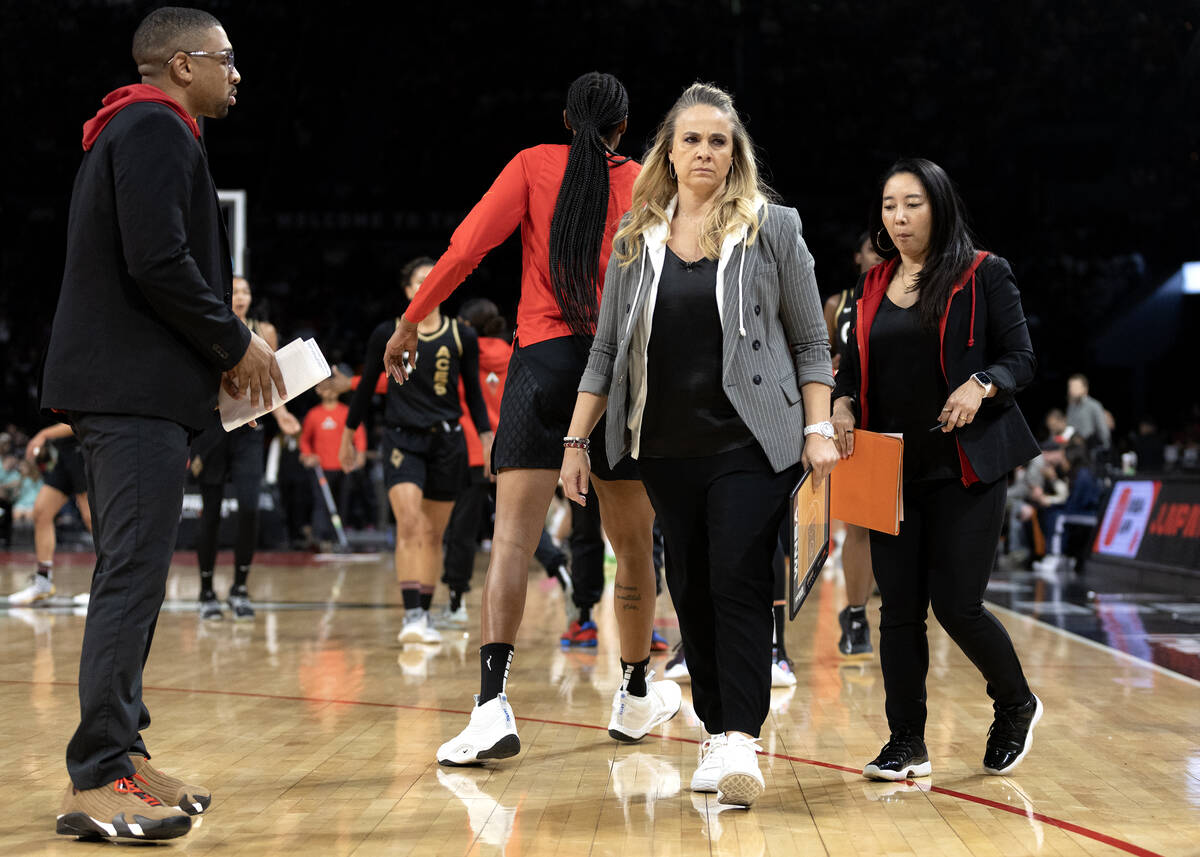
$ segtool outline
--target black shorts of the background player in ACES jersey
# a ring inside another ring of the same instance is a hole
[[[412,483],[425,499],[450,502],[467,487],[467,439],[462,426],[434,430],[384,428],[383,484]]]

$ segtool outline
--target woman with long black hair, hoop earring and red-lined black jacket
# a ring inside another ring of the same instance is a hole
[[[890,737],[871,779],[928,777],[925,676],[934,616],[988,682],[995,720],[983,767],[1025,757],[1042,702],[1003,625],[983,606],[1004,516],[1006,477],[1038,453],[1013,396],[1036,367],[1008,263],[974,247],[949,176],[923,158],[884,175],[871,236],[883,257],[858,282],[833,422],[904,435],[900,533],[871,532],[880,665]],[[932,426],[932,428],[931,428]]]

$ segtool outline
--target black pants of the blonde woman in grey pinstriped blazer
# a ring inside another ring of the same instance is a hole
[[[758,444],[703,459],[641,459],[666,540],[696,714],[709,732],[758,736],[770,711],[772,558],[799,466]]]

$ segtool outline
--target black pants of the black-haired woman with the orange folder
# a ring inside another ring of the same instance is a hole
[[[1004,520],[1004,480],[970,489],[958,479],[908,484],[900,534],[871,532],[871,564],[882,598],[880,666],[892,732],[925,732],[930,605],[988,681],[992,700],[1007,706],[1030,697],[1013,641],[983,606]]]

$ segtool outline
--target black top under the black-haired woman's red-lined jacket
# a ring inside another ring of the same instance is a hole
[[[949,395],[937,348],[916,304],[901,308],[883,296],[871,324],[866,406],[872,431],[904,435],[906,483],[962,474],[954,432],[929,431]]]

